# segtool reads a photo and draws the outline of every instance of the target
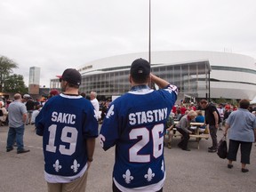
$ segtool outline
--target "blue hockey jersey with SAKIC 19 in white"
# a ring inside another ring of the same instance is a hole
[[[62,93],[52,97],[36,116],[36,134],[43,136],[45,179],[75,180],[86,171],[86,139],[98,136],[91,102]]]

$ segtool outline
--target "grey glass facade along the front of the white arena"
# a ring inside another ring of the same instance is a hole
[[[119,70],[118,70],[119,69]],[[180,94],[191,97],[205,97],[209,94],[209,61],[198,61],[179,65],[154,64],[151,67],[152,73],[164,78],[171,84],[179,87]],[[104,68],[98,74],[84,74],[80,92],[87,95],[95,91],[99,96],[111,97],[122,95],[130,91],[129,82],[130,66],[122,68]],[[56,84],[55,84],[56,85]],[[59,86],[55,86],[58,88]]]

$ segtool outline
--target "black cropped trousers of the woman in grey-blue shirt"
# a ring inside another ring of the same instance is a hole
[[[244,142],[239,140],[229,140],[228,146],[228,160],[236,161],[236,155],[241,145],[241,163],[242,164],[250,164],[250,155],[252,150],[252,142]]]

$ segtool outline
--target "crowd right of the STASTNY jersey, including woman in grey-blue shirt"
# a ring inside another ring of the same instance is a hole
[[[177,131],[181,133],[182,137],[178,147],[183,150],[190,151],[188,148],[189,134],[193,133],[190,122],[204,123],[209,127],[212,138],[212,146],[208,148],[208,152],[216,152],[218,149],[217,131],[224,129],[223,135],[228,135],[228,169],[233,168],[233,161],[236,161],[238,148],[241,148],[241,172],[249,172],[246,164],[250,164],[250,155],[252,150],[252,143],[256,141],[256,107],[250,106],[250,100],[240,100],[239,107],[230,104],[213,104],[207,100],[200,100],[194,108],[194,103],[174,106],[169,119],[179,121],[175,125]],[[181,110],[181,108],[183,108]],[[204,110],[204,116],[202,116]],[[173,113],[175,111],[175,113]],[[181,114],[181,111],[183,114]],[[185,112],[184,112],[185,111]],[[171,147],[172,129],[174,121],[171,124],[166,124],[166,134],[168,134],[167,147]]]

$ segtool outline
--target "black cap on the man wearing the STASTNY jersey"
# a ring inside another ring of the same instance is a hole
[[[130,69],[131,76],[149,76],[150,64],[142,58],[134,60]]]

